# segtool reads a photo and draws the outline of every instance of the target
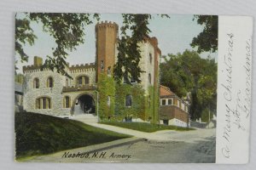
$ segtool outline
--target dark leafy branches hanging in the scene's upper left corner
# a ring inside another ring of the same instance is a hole
[[[44,67],[54,69],[67,76],[68,51],[73,51],[79,44],[84,43],[84,27],[92,24],[92,20],[99,19],[98,14],[75,13],[25,13],[23,19],[15,19],[15,52],[20,54],[20,60],[27,61],[28,55],[23,45],[33,45],[37,38],[30,26],[31,22],[43,23],[43,29],[55,39],[56,48],[52,48],[52,56],[47,56]],[[92,15],[92,16],[91,16]]]

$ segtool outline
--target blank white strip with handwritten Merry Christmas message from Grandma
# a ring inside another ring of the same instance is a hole
[[[252,17],[218,17],[216,163],[248,162],[252,34]]]

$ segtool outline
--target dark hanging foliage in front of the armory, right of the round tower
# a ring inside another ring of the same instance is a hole
[[[119,54],[117,63],[114,65],[113,76],[118,83],[123,77],[130,77],[136,82],[141,82],[140,75],[144,71],[139,66],[141,59],[139,42],[147,40],[150,32],[148,21],[152,16],[151,14],[122,14],[122,16],[124,20],[120,28],[121,37],[117,48]],[[162,14],[161,17],[169,18],[166,14]]]

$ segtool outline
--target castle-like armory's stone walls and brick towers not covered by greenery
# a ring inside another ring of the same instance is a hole
[[[101,91],[97,87],[98,77],[102,73],[113,77],[113,65],[117,61],[118,54],[118,28],[117,24],[111,22],[96,25],[96,63],[68,66],[67,73],[72,78],[61,76],[55,71],[42,70],[43,60],[39,57],[34,58],[34,65],[24,66],[24,110],[54,116],[70,116],[86,111],[96,112],[97,95],[101,95],[98,94]],[[153,93],[152,89],[156,92],[159,90],[160,49],[155,37],[148,37],[139,44],[139,47],[142,55],[139,66],[145,71],[141,75],[140,84],[145,99],[142,103],[145,105],[148,104],[148,99],[156,99],[155,106],[158,104],[159,96],[158,93]],[[136,98],[136,96],[132,97]],[[157,108],[151,109],[154,113],[150,114],[158,115]],[[153,117],[156,119],[158,116]]]

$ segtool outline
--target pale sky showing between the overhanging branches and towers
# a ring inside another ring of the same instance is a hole
[[[203,30],[203,26],[198,25],[196,20],[193,20],[193,15],[169,14],[169,16],[171,18],[161,18],[153,14],[153,19],[149,21],[148,26],[151,30],[149,36],[157,37],[162,55],[183,53],[185,49],[195,50],[189,44],[193,37],[196,37]],[[17,17],[22,18],[23,14],[17,14]],[[122,25],[121,14],[101,14],[100,21],[102,20],[113,21],[119,25],[119,28]],[[79,45],[77,50],[69,53],[67,62],[70,65],[95,62],[95,25],[96,20],[90,26],[86,26],[84,44]],[[22,71],[23,65],[32,65],[34,56],[46,59],[46,55],[52,54],[51,48],[56,47],[54,38],[43,31],[41,23],[32,22],[31,26],[38,39],[36,39],[33,46],[26,45],[24,47],[26,54],[30,56],[27,63],[20,63],[20,56],[15,56],[19,61],[17,64],[19,70],[17,72]],[[201,54],[201,57],[205,58],[207,55],[215,59],[218,57],[217,53],[204,53]]]

